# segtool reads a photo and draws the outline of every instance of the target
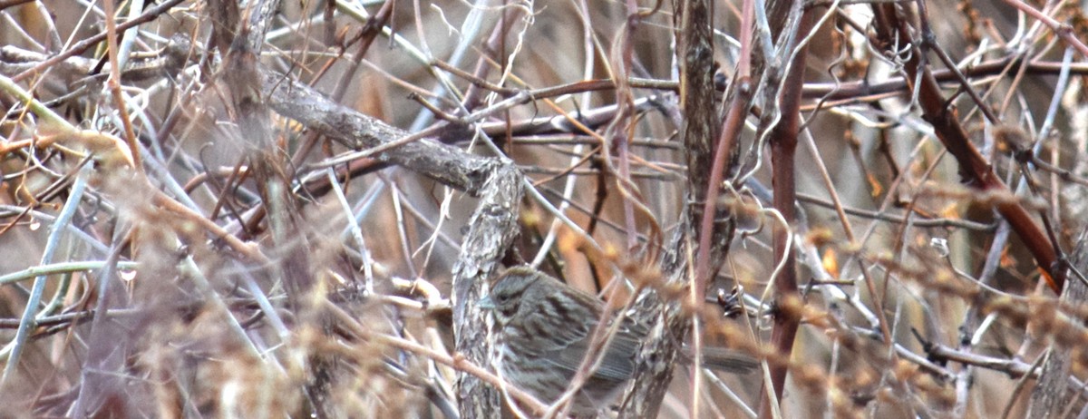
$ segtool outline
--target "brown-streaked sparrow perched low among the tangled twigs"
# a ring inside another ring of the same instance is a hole
[[[592,344],[604,301],[529,267],[510,268],[480,300],[495,319],[502,377],[553,403],[567,391]],[[604,350],[601,366],[571,402],[576,416],[593,415],[623,389],[646,330],[627,320]]]

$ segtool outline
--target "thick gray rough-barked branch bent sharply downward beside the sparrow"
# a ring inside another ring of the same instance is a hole
[[[387,147],[409,136],[282,74],[265,71],[262,93],[281,115],[353,149]],[[474,156],[430,138],[385,148],[373,157],[480,197],[454,264],[454,334],[457,353],[487,366],[485,316],[475,303],[486,294],[485,280],[494,275],[518,233],[521,172],[507,159]],[[466,373],[457,379],[457,398],[462,418],[492,418],[499,412],[498,391]]]

